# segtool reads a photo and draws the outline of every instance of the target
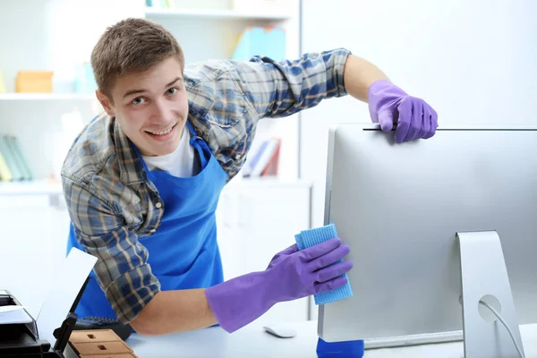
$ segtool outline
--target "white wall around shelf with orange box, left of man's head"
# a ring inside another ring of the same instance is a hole
[[[0,0],[0,69],[6,90],[15,90],[21,70],[54,72],[54,91],[70,93],[75,66],[90,61],[91,49],[107,26],[129,16],[141,17],[143,0]],[[93,101],[0,100],[0,133],[17,135],[38,179],[57,172],[63,132],[61,115],[78,110],[84,122],[99,112]],[[70,138],[72,141],[72,138]]]

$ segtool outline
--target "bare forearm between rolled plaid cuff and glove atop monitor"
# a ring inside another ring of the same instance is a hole
[[[388,80],[388,76],[379,67],[357,55],[347,57],[343,77],[347,93],[363,102],[368,102],[371,83]]]

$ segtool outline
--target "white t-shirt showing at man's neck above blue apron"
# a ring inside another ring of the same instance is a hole
[[[183,136],[177,149],[166,156],[146,157],[142,156],[149,170],[158,168],[170,175],[177,177],[188,177],[194,173],[194,149],[190,144],[191,133],[188,127],[184,126]]]

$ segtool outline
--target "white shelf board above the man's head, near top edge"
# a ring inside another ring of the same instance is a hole
[[[146,7],[146,16],[166,16],[178,18],[206,18],[221,20],[258,19],[282,21],[291,17],[284,12],[243,12],[239,10],[212,10],[212,9],[174,9]]]

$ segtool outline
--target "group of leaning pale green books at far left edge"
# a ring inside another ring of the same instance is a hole
[[[19,139],[0,134],[0,181],[30,181],[34,178],[28,158],[21,149]]]

